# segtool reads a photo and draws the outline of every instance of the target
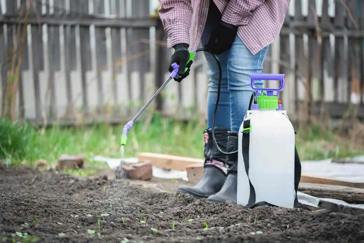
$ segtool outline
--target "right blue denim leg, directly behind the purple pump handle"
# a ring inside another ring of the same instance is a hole
[[[250,74],[261,73],[263,61],[268,47],[253,55],[244,42],[236,36],[227,59],[228,89],[230,95],[231,129],[238,132],[248,110],[252,88],[250,87]],[[257,80],[255,87],[262,87],[263,81]]]

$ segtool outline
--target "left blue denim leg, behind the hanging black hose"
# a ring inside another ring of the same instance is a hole
[[[221,13],[215,6],[213,1],[209,4],[209,13],[207,14],[207,20],[205,28],[201,36],[201,44],[205,46],[209,41],[211,32],[214,26],[219,22]],[[215,104],[217,101],[217,91],[219,82],[219,68],[215,58],[204,52],[207,61],[207,75],[209,75],[209,87],[207,93],[207,128],[212,128],[212,117],[215,110]],[[220,88],[219,106],[217,108],[215,116],[215,127],[230,128],[230,91],[227,89],[227,56],[229,51],[223,52],[218,56],[221,62],[222,80]]]

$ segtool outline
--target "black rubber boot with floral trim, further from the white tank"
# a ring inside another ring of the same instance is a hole
[[[215,128],[215,138],[222,151],[226,151],[228,128]],[[182,185],[177,193],[187,193],[198,198],[207,198],[222,188],[226,179],[226,155],[216,148],[211,129],[203,133],[205,163],[201,180],[193,187]]]

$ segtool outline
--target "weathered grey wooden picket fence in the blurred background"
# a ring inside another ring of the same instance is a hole
[[[362,0],[291,0],[263,70],[286,74],[290,117],[310,107],[302,114],[364,118],[363,11]],[[0,0],[1,113],[38,124],[132,118],[168,77],[172,52],[150,12],[147,0]],[[204,119],[207,83],[199,55],[151,108]]]

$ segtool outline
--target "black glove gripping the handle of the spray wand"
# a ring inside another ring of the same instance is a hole
[[[174,48],[174,53],[171,57],[171,62],[169,63],[168,71],[172,72],[173,67],[171,65],[173,63],[177,63],[179,65],[178,76],[175,77],[174,80],[177,82],[181,82],[182,79],[186,78],[190,74],[190,67],[193,61],[191,60],[187,64],[187,61],[190,58],[190,52],[188,51],[188,44],[185,43],[176,44],[175,46],[173,46],[173,48]],[[185,72],[186,67],[187,71]]]

